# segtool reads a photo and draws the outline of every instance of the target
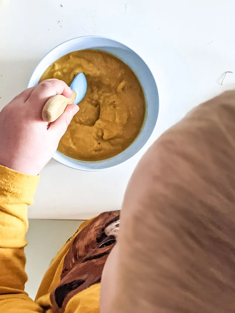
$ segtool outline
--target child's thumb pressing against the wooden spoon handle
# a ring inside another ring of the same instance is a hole
[[[61,137],[64,135],[74,115],[79,111],[79,106],[69,104],[64,110],[64,113],[57,120],[50,124],[50,131],[56,131]]]

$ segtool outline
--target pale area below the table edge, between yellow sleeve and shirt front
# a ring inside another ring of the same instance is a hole
[[[28,246],[25,248],[29,280],[25,290],[33,300],[50,261],[81,223],[82,221],[29,220],[26,234]]]

